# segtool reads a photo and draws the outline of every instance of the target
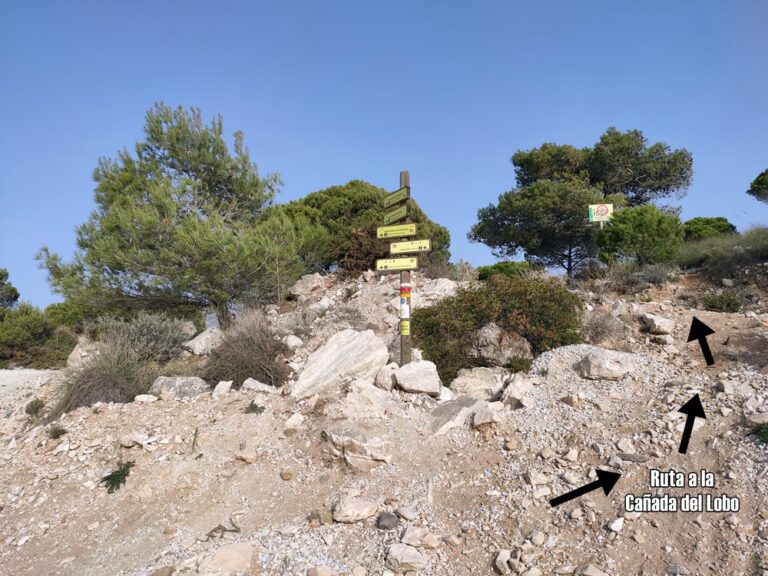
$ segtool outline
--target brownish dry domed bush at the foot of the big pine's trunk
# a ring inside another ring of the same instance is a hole
[[[204,378],[211,383],[233,380],[240,386],[248,378],[272,386],[282,386],[288,379],[288,366],[278,359],[288,347],[278,340],[257,311],[240,316],[225,334],[204,368]]]

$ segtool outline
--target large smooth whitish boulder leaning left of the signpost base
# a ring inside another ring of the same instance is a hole
[[[309,355],[291,396],[308,398],[337,390],[345,380],[372,379],[388,361],[387,345],[373,330],[342,330]]]

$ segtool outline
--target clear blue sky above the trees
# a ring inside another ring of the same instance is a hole
[[[141,138],[153,103],[222,114],[285,202],[352,179],[412,193],[452,236],[514,186],[511,155],[609,126],[691,151],[683,217],[768,223],[764,0],[0,0],[0,267],[50,293],[91,174]]]

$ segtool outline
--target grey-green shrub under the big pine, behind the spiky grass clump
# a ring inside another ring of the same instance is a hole
[[[101,317],[93,330],[98,340],[123,341],[141,360],[154,362],[167,362],[189,340],[184,321],[143,311],[131,320]]]

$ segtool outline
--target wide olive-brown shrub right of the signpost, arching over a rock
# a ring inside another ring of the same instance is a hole
[[[460,369],[482,365],[470,351],[477,331],[489,322],[523,336],[538,354],[579,340],[580,306],[557,280],[494,275],[478,288],[416,310],[414,344],[450,382]]]

